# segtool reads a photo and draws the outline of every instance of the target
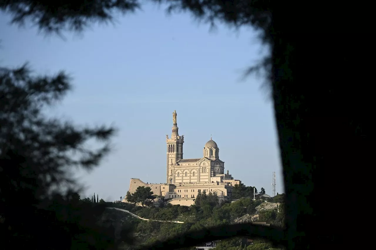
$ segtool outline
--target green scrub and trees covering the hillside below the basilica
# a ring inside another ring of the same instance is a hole
[[[237,190],[240,191],[241,188],[237,188]],[[192,206],[180,206],[164,203],[163,206],[156,208],[153,205],[135,206],[132,203],[124,202],[107,203],[108,206],[126,209],[142,218],[152,220],[184,221],[182,224],[144,221],[132,217],[126,212],[113,209],[107,209],[100,221],[103,225],[112,225],[115,228],[116,240],[120,240],[122,232],[129,232],[130,235],[132,235],[131,237],[133,245],[122,242],[120,244],[120,248],[124,250],[131,250],[139,248],[142,245],[150,245],[158,241],[163,241],[172,236],[179,236],[186,232],[230,223],[261,221],[282,227],[284,225],[283,202],[284,194],[278,194],[273,198],[267,199],[267,202],[265,202],[265,199],[258,198],[253,200],[249,197],[241,197],[233,202],[220,203],[215,193],[206,194],[203,192],[197,195],[195,204]],[[215,249],[274,249],[267,241],[253,240],[253,245],[250,244],[250,241],[248,244],[245,242],[246,241],[244,241],[244,238],[232,238],[217,242]]]

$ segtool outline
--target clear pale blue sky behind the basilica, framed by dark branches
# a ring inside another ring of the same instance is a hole
[[[174,110],[184,158],[202,157],[212,135],[225,171],[269,195],[275,171],[276,193],[283,192],[272,102],[262,78],[241,81],[244,69],[262,57],[253,30],[218,26],[210,32],[189,14],[168,17],[155,5],[81,36],[65,33],[65,41],[9,21],[0,15],[2,66],[28,61],[35,72],[65,70],[73,77],[74,91],[50,114],[119,129],[114,151],[100,166],[77,172],[83,196],[119,199],[130,178],[165,182],[165,135]]]

